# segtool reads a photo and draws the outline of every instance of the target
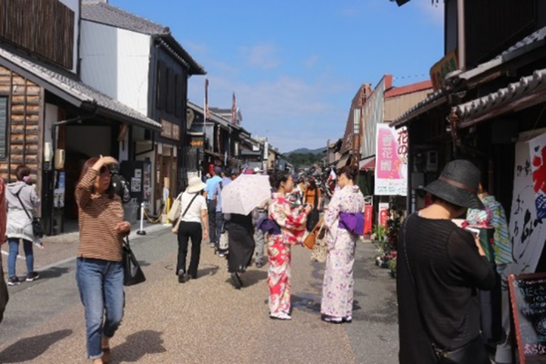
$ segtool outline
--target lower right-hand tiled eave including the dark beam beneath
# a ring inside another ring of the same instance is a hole
[[[519,82],[503,87],[497,92],[483,96],[470,102],[453,107],[453,111],[459,117],[460,127],[468,127],[484,121],[492,116],[500,115],[505,106],[506,111],[513,111],[513,103],[519,102],[519,106],[531,106],[536,103],[537,95],[546,97],[546,69],[535,71],[531,76],[521,77]],[[542,100],[542,99],[540,99]]]

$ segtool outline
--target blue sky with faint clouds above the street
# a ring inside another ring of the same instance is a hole
[[[237,95],[243,126],[287,152],[343,136],[362,83],[429,78],[443,56],[443,10],[430,0],[110,0],[170,27],[205,66],[210,106]],[[189,98],[203,103],[204,76]]]

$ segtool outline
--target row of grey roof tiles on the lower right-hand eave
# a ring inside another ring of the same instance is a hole
[[[488,96],[453,107],[453,109],[459,116],[460,123],[464,123],[483,116],[494,108],[505,106],[511,101],[529,96],[543,87],[546,87],[546,69],[535,71],[531,76],[521,77],[519,82],[501,88]]]

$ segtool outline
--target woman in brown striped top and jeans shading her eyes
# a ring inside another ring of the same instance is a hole
[[[125,307],[122,263],[123,239],[131,224],[123,220],[110,166],[113,157],[92,157],[82,168],[76,186],[80,244],[76,282],[86,310],[87,358],[94,364],[110,360],[114,337]]]

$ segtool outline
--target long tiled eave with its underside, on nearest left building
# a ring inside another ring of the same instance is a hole
[[[87,86],[76,76],[70,76],[56,71],[53,68],[43,66],[37,61],[31,61],[23,56],[0,47],[0,58],[9,63],[12,69],[21,69],[23,72],[35,76],[36,83],[41,84],[45,89],[50,90],[57,96],[65,99],[69,103],[81,107],[83,104],[96,104],[99,114],[104,113],[108,116],[123,118],[127,122],[132,122],[139,126],[144,126],[153,130],[161,130],[161,124],[142,115],[125,104],[106,96],[91,86]],[[0,61],[0,63],[4,63]],[[8,65],[5,65],[8,66]]]

